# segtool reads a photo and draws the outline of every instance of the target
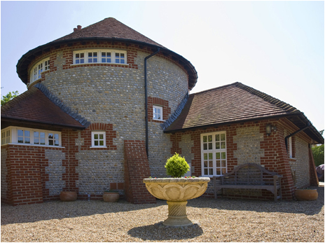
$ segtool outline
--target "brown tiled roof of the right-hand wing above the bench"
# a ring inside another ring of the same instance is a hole
[[[299,128],[309,122],[301,111],[290,104],[237,82],[189,95],[179,116],[174,121],[167,120],[163,127],[165,132],[177,132],[277,117],[286,117]],[[304,132],[324,144],[324,138],[314,126],[310,125]]]

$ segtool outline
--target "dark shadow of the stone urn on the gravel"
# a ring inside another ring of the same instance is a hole
[[[192,239],[203,234],[202,228],[198,225],[192,225],[184,228],[174,228],[163,226],[162,223],[146,225],[132,228],[127,232],[128,235],[142,240],[151,240],[154,242],[163,240]]]

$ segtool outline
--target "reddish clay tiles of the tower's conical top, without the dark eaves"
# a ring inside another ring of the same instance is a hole
[[[89,25],[88,27],[77,29],[71,34],[63,36],[60,39],[56,39],[53,42],[94,37],[141,41],[154,46],[163,47],[155,41],[148,39],[148,37],[144,36],[143,34],[140,34],[127,25],[124,25],[122,22],[116,20],[115,18],[106,18],[93,25]]]

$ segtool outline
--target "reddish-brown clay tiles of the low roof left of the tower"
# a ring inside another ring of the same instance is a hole
[[[85,129],[86,127],[54,104],[39,88],[32,87],[1,106],[1,123],[4,120],[21,123],[39,123]]]

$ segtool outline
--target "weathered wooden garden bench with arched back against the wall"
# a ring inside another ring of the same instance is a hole
[[[214,176],[214,198],[216,192],[222,188],[229,189],[266,189],[275,195],[275,202],[282,200],[282,175],[270,172],[261,165],[247,163],[235,167],[232,172],[223,176]],[[221,183],[218,184],[217,180]]]

